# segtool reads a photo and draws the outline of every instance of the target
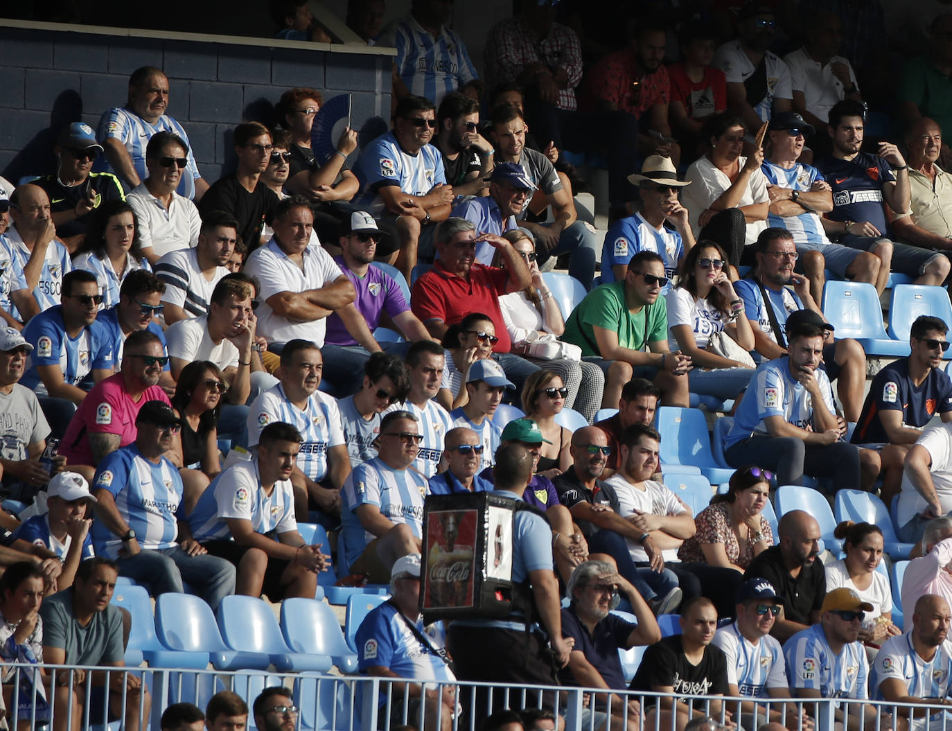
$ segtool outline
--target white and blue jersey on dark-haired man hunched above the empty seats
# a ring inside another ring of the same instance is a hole
[[[278,534],[297,530],[290,480],[277,481],[267,495],[261,486],[257,457],[228,467],[202,493],[188,515],[188,527],[199,543],[228,541],[228,518],[250,521],[255,533],[275,541]]]

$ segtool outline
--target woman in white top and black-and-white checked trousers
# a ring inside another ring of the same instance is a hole
[[[540,358],[529,354],[532,348],[530,344],[535,340],[547,340],[562,335],[565,332],[565,320],[559,303],[539,271],[535,247],[526,231],[522,228],[506,231],[503,238],[522,255],[532,277],[531,284],[525,289],[509,292],[499,298],[500,311],[503,313],[503,322],[506,323],[512,349],[525,352],[529,362],[557,373],[568,388],[565,407],[574,408],[590,422],[602,405],[605,373],[594,363],[571,358]],[[498,252],[493,259],[493,266],[506,268]]]

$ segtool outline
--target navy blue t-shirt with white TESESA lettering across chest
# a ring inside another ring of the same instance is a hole
[[[883,183],[894,183],[896,177],[882,157],[869,152],[852,160],[826,156],[816,167],[833,188],[833,210],[827,214],[831,221],[868,221],[883,236],[888,235]]]

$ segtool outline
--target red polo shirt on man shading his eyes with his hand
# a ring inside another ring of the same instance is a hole
[[[512,347],[499,298],[506,294],[509,274],[505,269],[473,264],[464,278],[451,274],[437,260],[429,271],[421,276],[410,292],[410,309],[426,324],[427,320],[442,320],[446,325],[460,322],[472,312],[482,312],[496,327],[499,342],[492,348],[497,353],[507,353]]]

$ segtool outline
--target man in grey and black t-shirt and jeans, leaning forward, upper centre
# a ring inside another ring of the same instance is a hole
[[[535,238],[536,253],[540,260],[545,262],[549,257],[570,254],[568,273],[586,289],[591,288],[598,257],[595,234],[578,220],[572,193],[565,188],[548,158],[542,152],[526,148],[526,120],[523,112],[511,104],[493,109],[491,136],[496,148],[496,165],[516,163],[540,191],[537,196],[526,197],[523,212],[516,216],[519,226],[527,228]],[[633,168],[626,167],[625,171]],[[527,220],[529,212],[542,214],[545,207],[552,207],[551,223],[540,224]],[[437,250],[442,257],[443,252]]]

